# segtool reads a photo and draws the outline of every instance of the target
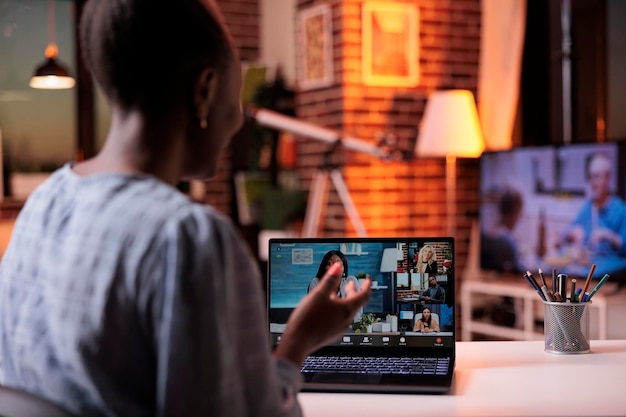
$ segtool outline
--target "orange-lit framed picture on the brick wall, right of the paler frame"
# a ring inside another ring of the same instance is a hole
[[[418,6],[365,2],[362,19],[363,84],[416,86],[419,82]]]

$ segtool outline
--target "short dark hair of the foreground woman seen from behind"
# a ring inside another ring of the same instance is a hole
[[[191,94],[199,71],[220,67],[232,49],[211,0],[89,0],[80,42],[105,96],[148,116],[168,111],[181,90]]]

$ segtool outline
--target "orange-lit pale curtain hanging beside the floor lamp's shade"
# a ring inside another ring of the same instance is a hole
[[[478,114],[485,148],[509,149],[519,103],[526,0],[482,0]]]

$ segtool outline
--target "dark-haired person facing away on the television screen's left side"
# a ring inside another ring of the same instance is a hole
[[[518,246],[513,230],[522,213],[522,194],[511,187],[503,189],[498,196],[498,220],[490,230],[481,232],[481,265],[486,269],[507,272],[522,271]]]

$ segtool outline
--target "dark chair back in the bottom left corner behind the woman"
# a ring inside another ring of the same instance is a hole
[[[36,395],[0,386],[0,417],[76,417]]]

